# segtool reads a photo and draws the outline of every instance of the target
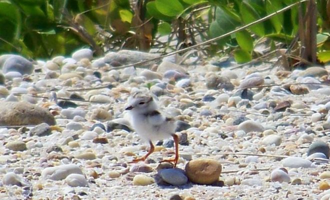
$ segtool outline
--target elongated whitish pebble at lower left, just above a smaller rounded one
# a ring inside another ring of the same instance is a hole
[[[41,176],[44,179],[62,180],[72,173],[82,174],[82,171],[75,164],[64,164],[44,168],[41,172]]]

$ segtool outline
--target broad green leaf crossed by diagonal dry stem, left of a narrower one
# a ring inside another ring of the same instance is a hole
[[[240,15],[245,24],[251,23],[260,18],[255,9],[250,6],[246,1],[242,1],[240,5]],[[249,29],[258,36],[264,36],[264,26],[262,22],[250,26]]]

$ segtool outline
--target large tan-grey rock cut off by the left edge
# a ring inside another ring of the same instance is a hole
[[[27,101],[0,103],[0,125],[36,125],[43,122],[56,124],[54,116],[45,108]]]

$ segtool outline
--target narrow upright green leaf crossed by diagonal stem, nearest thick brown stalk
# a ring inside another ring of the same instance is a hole
[[[266,0],[266,13],[271,14],[282,8],[282,2],[280,0]],[[283,24],[283,13],[278,13],[270,18],[271,24],[275,28],[276,32],[280,32]]]

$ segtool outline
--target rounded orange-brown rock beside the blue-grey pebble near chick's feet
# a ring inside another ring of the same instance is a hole
[[[189,180],[199,184],[212,184],[218,180],[221,169],[220,162],[207,158],[191,160],[185,165]]]

